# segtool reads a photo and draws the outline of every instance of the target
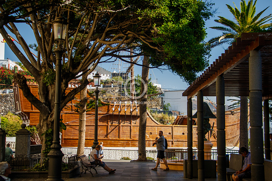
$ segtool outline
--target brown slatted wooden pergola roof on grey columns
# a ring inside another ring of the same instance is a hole
[[[226,96],[248,96],[249,95],[249,53],[251,50],[261,50],[263,84],[266,82],[266,91],[263,96],[272,92],[272,33],[269,36],[249,36],[246,40],[238,38],[238,41],[228,47],[210,67],[198,77],[193,86],[183,93],[183,96],[193,97],[197,91],[202,90],[203,95],[216,95],[216,78],[223,74],[225,80]],[[268,37],[268,38],[267,38]],[[269,49],[270,48],[270,49]],[[264,51],[262,51],[264,50]],[[231,58],[231,60],[228,60]],[[271,96],[272,97],[272,96]]]

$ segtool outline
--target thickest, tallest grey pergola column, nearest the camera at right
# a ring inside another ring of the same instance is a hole
[[[250,108],[250,151],[251,180],[264,179],[263,130],[262,130],[262,85],[261,55],[251,50],[249,57],[249,108]]]

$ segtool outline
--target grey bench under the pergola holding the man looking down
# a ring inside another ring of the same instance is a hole
[[[232,181],[232,174],[240,170],[244,165],[244,157],[240,154],[232,153],[230,156],[229,168],[227,168],[227,181]]]

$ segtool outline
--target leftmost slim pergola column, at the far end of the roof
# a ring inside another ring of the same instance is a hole
[[[187,99],[187,178],[193,179],[193,104]]]

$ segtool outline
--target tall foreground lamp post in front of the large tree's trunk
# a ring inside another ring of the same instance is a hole
[[[54,132],[53,132],[53,144],[51,145],[51,151],[49,152],[49,170],[48,181],[59,181],[62,179],[62,146],[59,141],[59,129],[60,129],[60,94],[61,94],[61,68],[62,68],[62,53],[63,42],[66,36],[66,24],[63,22],[63,18],[58,17],[56,21],[53,21],[53,31],[57,47],[54,49],[56,55],[56,89],[55,89],[55,112],[54,112]]]

